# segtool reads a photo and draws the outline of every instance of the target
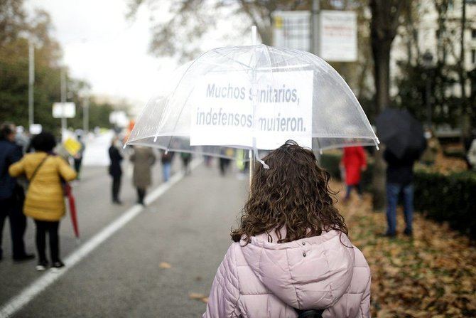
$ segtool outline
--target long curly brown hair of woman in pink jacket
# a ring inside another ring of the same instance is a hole
[[[237,229],[230,234],[234,242],[249,243],[251,236],[274,230],[278,243],[318,236],[339,230],[347,235],[344,218],[334,206],[329,187],[330,174],[318,166],[310,149],[288,140],[254,169],[247,203]],[[281,237],[286,228],[286,237]],[[268,236],[272,241],[271,236]]]

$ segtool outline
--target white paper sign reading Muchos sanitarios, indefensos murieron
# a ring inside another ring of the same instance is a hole
[[[255,83],[251,85],[251,83]],[[313,71],[205,75],[190,96],[190,145],[276,149],[288,139],[311,147]]]

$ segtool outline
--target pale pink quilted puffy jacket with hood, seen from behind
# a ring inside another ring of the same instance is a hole
[[[345,246],[352,243],[344,233],[289,243],[261,234],[242,245],[232,243],[218,267],[203,317],[295,318],[294,308],[370,317],[369,265],[358,248]]]

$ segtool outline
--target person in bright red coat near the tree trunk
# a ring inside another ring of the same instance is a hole
[[[362,198],[361,173],[367,169],[364,148],[362,146],[345,147],[340,164],[345,169],[345,184],[347,185],[344,202],[349,201],[352,188],[355,188],[359,197]]]

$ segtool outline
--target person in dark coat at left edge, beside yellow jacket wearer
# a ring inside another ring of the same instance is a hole
[[[0,127],[0,260],[3,258],[1,240],[5,219],[10,221],[10,233],[13,249],[13,260],[31,260],[32,254],[25,252],[23,235],[26,230],[26,216],[23,214],[25,194],[16,178],[9,174],[9,166],[22,157],[22,149],[15,144],[16,128],[13,124],[2,124]]]

